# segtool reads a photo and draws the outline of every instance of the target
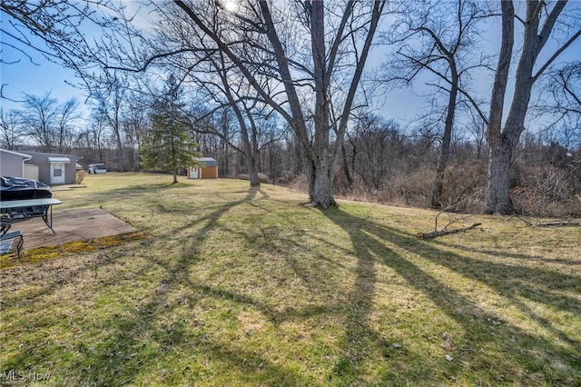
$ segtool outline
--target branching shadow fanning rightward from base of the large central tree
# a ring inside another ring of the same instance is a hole
[[[490,348],[498,353],[506,353],[501,357],[509,357],[511,364],[495,365],[486,359],[478,359],[481,356],[478,352],[462,352],[460,349],[450,350],[457,362],[436,361],[439,369],[433,370],[429,367],[413,370],[412,377],[416,381],[436,380],[432,379],[434,372],[446,370],[448,375],[459,373],[471,373],[468,380],[484,382],[485,384],[495,384],[498,382],[519,382],[515,375],[510,375],[511,370],[524,370],[524,372],[541,374],[545,382],[562,383],[580,382],[581,373],[566,374],[556,372],[553,367],[559,364],[567,364],[569,370],[578,370],[581,363],[581,347],[578,342],[572,342],[565,332],[561,332],[547,319],[538,316],[525,303],[518,300],[517,296],[526,297],[527,293],[534,291],[530,280],[537,275],[541,275],[537,269],[524,266],[511,266],[503,263],[482,263],[467,256],[460,256],[439,250],[437,245],[426,241],[419,241],[417,236],[403,233],[392,227],[381,225],[370,220],[361,219],[340,209],[330,209],[323,212],[332,223],[339,225],[349,234],[357,256],[357,269],[355,271],[356,281],[349,296],[350,316],[343,339],[344,355],[337,363],[335,377],[347,378],[352,383],[364,381],[364,371],[361,367],[361,359],[366,352],[373,351],[389,344],[384,337],[370,326],[369,318],[377,286],[376,271],[378,265],[386,265],[401,276],[410,286],[425,294],[434,303],[438,310],[445,313],[448,318],[458,323],[465,332],[464,342],[469,343],[471,349],[478,351],[478,348]],[[486,283],[487,286],[503,292],[504,297],[510,303],[517,306],[521,313],[527,314],[537,323],[547,328],[554,335],[554,342],[543,337],[542,334],[527,332],[519,328],[515,323],[507,322],[501,316],[496,316],[492,312],[487,312],[467,296],[454,291],[447,283],[443,283],[438,278],[429,274],[424,268],[409,259],[409,254],[414,254],[430,262],[446,266],[450,271],[464,277]],[[509,274],[507,274],[509,273]],[[556,275],[556,281],[568,283],[568,288],[574,291],[575,285],[572,278],[565,274]],[[518,282],[510,282],[511,277],[517,277]],[[546,303],[549,307],[561,308],[560,300],[556,297],[538,297],[535,301]],[[573,300],[569,300],[571,305]],[[577,307],[575,312],[579,312]],[[490,323],[500,323],[500,328],[490,332]],[[441,332],[432,332],[434,336]],[[522,347],[510,345],[511,339],[518,337],[519,342],[527,342],[530,345],[527,352],[523,352]],[[405,340],[405,339],[404,339]],[[422,340],[416,336],[415,340]],[[508,344],[507,344],[508,343]],[[449,350],[449,349],[448,349]],[[488,350],[489,351],[489,350]],[[541,353],[538,359],[534,359],[535,353]],[[547,363],[547,359],[556,359],[555,364]],[[427,359],[428,360],[428,359]],[[459,365],[458,365],[459,360]],[[470,370],[464,364],[471,365]],[[479,370],[476,366],[482,367]],[[492,365],[492,368],[490,367]],[[397,372],[397,371],[394,371]],[[508,373],[508,374],[507,374]],[[393,374],[386,372],[383,382],[391,382]],[[531,376],[528,374],[528,376]],[[502,379],[507,378],[507,379]],[[535,376],[528,382],[536,381]],[[403,380],[399,380],[403,382]],[[544,383],[544,382],[540,382]]]

